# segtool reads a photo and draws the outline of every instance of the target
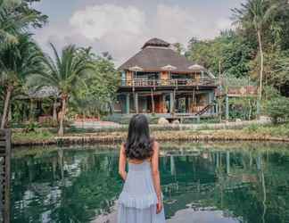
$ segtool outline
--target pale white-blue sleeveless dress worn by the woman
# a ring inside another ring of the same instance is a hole
[[[163,208],[156,214],[157,202],[151,163],[128,162],[128,175],[119,198],[118,223],[165,223]]]

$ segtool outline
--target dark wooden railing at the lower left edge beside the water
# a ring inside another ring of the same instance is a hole
[[[0,129],[0,222],[10,222],[11,130]]]

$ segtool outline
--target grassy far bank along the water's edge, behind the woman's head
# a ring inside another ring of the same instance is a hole
[[[214,124],[216,125],[216,124]],[[153,126],[152,136],[158,141],[272,141],[289,143],[289,125],[256,124],[238,126],[234,128],[195,128],[194,125]],[[15,131],[12,135],[12,145],[84,145],[95,143],[120,143],[127,137],[127,128],[104,128],[88,131],[80,129],[68,132],[59,137],[55,131],[37,129],[36,132],[22,133]]]

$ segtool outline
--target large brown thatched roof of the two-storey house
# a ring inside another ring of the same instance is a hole
[[[170,70],[179,73],[207,71],[200,65],[190,62],[169,47],[169,43],[153,38],[145,43],[142,50],[123,63],[119,70],[162,71]]]

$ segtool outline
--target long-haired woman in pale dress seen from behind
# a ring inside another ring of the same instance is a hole
[[[126,162],[128,160],[128,173]],[[159,144],[150,137],[145,115],[129,122],[127,142],[120,148],[118,223],[164,223],[159,173]]]

